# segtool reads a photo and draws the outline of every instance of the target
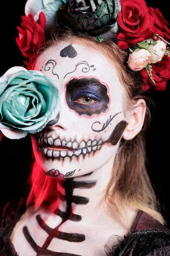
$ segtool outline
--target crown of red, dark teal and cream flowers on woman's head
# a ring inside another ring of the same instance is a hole
[[[103,39],[115,38],[129,50],[128,66],[139,71],[144,90],[166,90],[170,79],[170,29],[159,9],[144,0],[27,0],[16,42],[29,60],[40,49],[44,31],[61,16],[74,31]],[[60,18],[59,18],[60,19]]]

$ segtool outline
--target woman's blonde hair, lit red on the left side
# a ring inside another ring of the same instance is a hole
[[[118,71],[121,84],[126,91],[126,105],[130,108],[138,99],[147,97],[141,88],[141,77],[138,72],[133,72],[127,66],[128,52],[119,49],[113,40],[99,40],[94,36],[75,34],[72,31],[59,29],[57,33],[50,33],[53,39],[46,40],[44,46],[38,52],[31,66],[34,65],[36,58],[48,47],[56,43],[70,41],[80,42],[81,44],[97,49],[112,61]],[[145,130],[150,122],[150,111],[146,106],[146,117],[144,126],[139,134],[126,141],[121,140],[119,150],[113,164],[112,178],[104,195],[111,210],[117,211],[126,219],[130,226],[130,221],[126,216],[127,209],[141,210],[164,224],[163,217],[159,211],[159,202],[152,188],[147,169],[146,169],[146,146]],[[42,173],[40,167],[34,162],[32,174],[29,182],[31,191],[27,204],[33,204],[35,209],[41,206],[48,206],[51,211],[57,208],[57,179],[47,177]],[[52,193],[53,192],[53,193]]]

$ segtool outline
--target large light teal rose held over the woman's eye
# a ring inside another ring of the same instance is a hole
[[[10,139],[41,131],[59,111],[59,91],[41,72],[12,67],[0,77],[0,130]]]

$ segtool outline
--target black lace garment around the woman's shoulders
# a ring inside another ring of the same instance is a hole
[[[21,204],[10,215],[3,215],[0,222],[0,256],[18,256],[9,237],[25,210],[26,207]],[[115,239],[116,236],[113,237]],[[124,239],[117,236],[114,248],[107,243],[105,252],[107,256],[170,256],[170,230],[139,211],[129,235]]]

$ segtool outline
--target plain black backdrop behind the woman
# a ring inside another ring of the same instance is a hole
[[[170,23],[170,4],[166,0],[146,1],[148,6],[158,7],[163,16]],[[16,26],[21,24],[21,15],[24,15],[25,0],[3,1],[0,10],[0,76],[10,67],[21,66],[23,56],[15,43],[18,35]],[[155,103],[152,112],[152,122],[147,135],[147,155],[150,164],[148,173],[162,206],[162,214],[170,228],[170,178],[169,178],[169,103],[170,81],[166,91],[152,92],[151,98]],[[5,138],[0,147],[0,209],[9,200],[19,198],[24,193],[29,172],[26,172],[28,163],[26,158],[31,155],[31,143],[28,138],[9,140]],[[18,171],[18,166],[25,164],[25,168]],[[29,169],[29,168],[28,168]]]

